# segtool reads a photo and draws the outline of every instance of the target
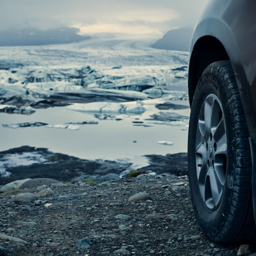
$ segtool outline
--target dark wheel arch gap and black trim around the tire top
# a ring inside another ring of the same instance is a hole
[[[194,32],[193,39],[195,39],[195,34],[197,34],[196,31]],[[252,138],[256,138],[256,104],[253,104],[253,99],[251,98],[251,90],[256,86],[249,86],[244,63],[241,60],[238,48],[232,42],[232,51],[228,52],[225,47],[225,40],[224,44],[222,44],[217,37],[212,35],[199,37],[194,44],[193,39],[188,66],[188,97],[190,106],[192,105],[196,86],[204,69],[215,61],[230,60],[238,84],[249,133]]]

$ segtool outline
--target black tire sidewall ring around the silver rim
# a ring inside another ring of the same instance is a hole
[[[227,134],[227,173],[225,189],[219,207],[213,211],[206,207],[201,197],[196,174],[196,131],[202,104],[209,94],[215,94],[222,104]],[[188,131],[188,174],[192,205],[196,219],[201,229],[211,237],[218,235],[220,230],[222,230],[227,220],[227,215],[230,212],[232,199],[232,180],[234,180],[235,172],[235,131],[234,120],[232,118],[233,112],[229,104],[229,99],[225,78],[221,76],[219,70],[214,68],[206,69],[196,88],[191,107]]]

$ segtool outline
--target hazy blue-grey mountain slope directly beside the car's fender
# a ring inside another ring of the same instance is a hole
[[[162,50],[188,51],[193,28],[183,27],[168,31],[161,39],[152,44],[151,47]]]

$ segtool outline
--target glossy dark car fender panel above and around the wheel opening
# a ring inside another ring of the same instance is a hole
[[[252,138],[256,138],[255,10],[255,0],[211,0],[196,25],[190,48],[191,55],[196,42],[205,36],[222,43],[235,72]]]

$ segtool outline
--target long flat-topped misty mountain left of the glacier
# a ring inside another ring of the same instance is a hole
[[[0,46],[67,44],[90,38],[78,35],[79,31],[70,27],[43,31],[31,27],[0,30]]]

